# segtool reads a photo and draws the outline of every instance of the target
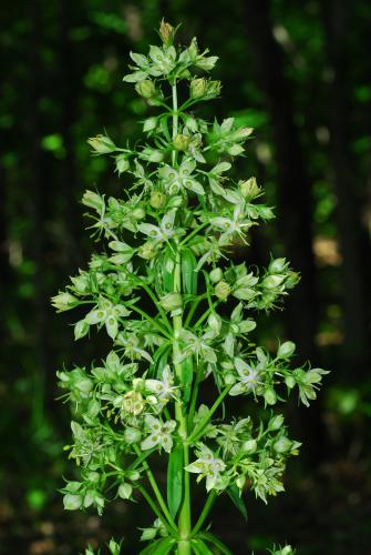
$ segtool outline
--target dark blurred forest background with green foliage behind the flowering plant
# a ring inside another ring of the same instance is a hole
[[[220,57],[223,95],[202,114],[256,128],[236,175],[257,175],[277,219],[254,234],[248,261],[284,255],[302,274],[259,340],[293,340],[298,361],[331,370],[311,408],[287,408],[303,443],[287,493],[267,506],[248,496],[247,523],[220,502],[215,532],[236,555],[285,541],[299,554],[371,554],[371,4],[357,0],[3,3],[0,553],[69,555],[124,535],[135,554],[136,516],[148,524],[138,504],[109,505],[102,518],[63,512],[56,490],[73,471],[55,370],[87,362],[91,346],[73,344],[73,316],[55,316],[50,296],[99,249],[84,189],[125,186],[86,139],[140,135],[153,109],[122,78],[163,16],[182,23],[182,43],[197,36]]]

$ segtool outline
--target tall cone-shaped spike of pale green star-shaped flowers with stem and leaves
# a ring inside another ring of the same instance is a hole
[[[144,121],[143,143],[89,140],[93,154],[113,159],[127,194],[84,193],[102,250],[52,300],[59,312],[79,307],[75,340],[105,333],[110,342],[100,363],[58,372],[74,408],[68,450],[81,473],[65,484],[64,506],[101,514],[111,498],[140,493],[156,515],[142,539],[164,549],[158,553],[179,545],[182,554],[206,553],[221,544],[202,532],[203,522],[192,535],[192,476],[205,478],[209,496],[227,492],[243,513],[245,491],[264,502],[281,492],[286,461],[300,443],[272,407],[295,390],[308,405],[327,372],[292,370],[290,341],[275,353],[256,345],[259,311],[279,305],[299,275],[285,258],[260,271],[228,260],[236,239],[248,244],[249,230],[274,218],[256,179],[236,181],[230,172],[253,129],[233,118],[196,119],[189,108],[220,91],[218,81],[199,75],[217,58],[199,51],[196,39],[175,47],[168,23],[159,36],[162,46],[148,56],[131,53],[134,65],[124,78],[159,111]],[[182,104],[179,81],[188,88]],[[205,381],[209,391],[215,386],[210,406],[202,398]],[[261,402],[259,422],[220,418],[224,401],[239,395]],[[151,470],[158,455],[167,457],[166,502]],[[114,542],[110,548],[120,552]]]

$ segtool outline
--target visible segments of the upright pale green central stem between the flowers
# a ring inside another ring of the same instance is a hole
[[[178,112],[177,112],[177,91],[176,83],[173,84],[173,139],[177,135],[178,132]],[[177,152],[173,150],[172,162],[173,165],[176,165]],[[181,251],[179,246],[177,248],[176,253],[176,265],[174,271],[174,292],[182,293],[182,261],[181,261]],[[183,317],[182,314],[173,317],[173,360],[174,360],[174,372],[177,379],[177,382],[182,384],[183,382],[183,373],[182,373],[182,363],[179,361],[181,355],[181,346],[179,346],[179,334],[183,327]],[[182,403],[176,403],[175,406],[175,417],[178,423],[178,433],[181,441],[183,443],[183,454],[184,454],[184,467],[189,464],[189,451],[188,451],[188,430],[187,430],[187,420],[183,414]],[[178,517],[178,546],[177,553],[178,555],[190,555],[190,484],[189,484],[189,473],[183,470],[183,500],[179,509]]]

